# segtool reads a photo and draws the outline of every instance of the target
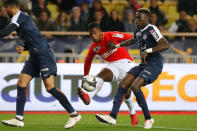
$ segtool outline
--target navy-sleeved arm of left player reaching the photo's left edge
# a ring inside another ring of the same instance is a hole
[[[15,31],[17,28],[18,28],[17,25],[14,23],[7,25],[4,29],[0,30],[0,38],[8,36],[10,33]]]

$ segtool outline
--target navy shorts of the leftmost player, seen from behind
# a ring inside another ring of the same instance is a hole
[[[54,55],[49,50],[45,55],[30,56],[21,73],[28,74],[32,77],[39,77],[41,74],[42,79],[47,79],[50,75],[57,75],[57,66]]]

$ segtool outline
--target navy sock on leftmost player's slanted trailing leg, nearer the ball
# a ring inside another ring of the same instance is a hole
[[[72,105],[70,104],[70,102],[68,101],[67,97],[64,95],[64,93],[62,93],[58,88],[52,88],[50,90],[48,90],[48,92],[54,96],[59,102],[60,104],[69,112],[69,113],[73,113],[75,111],[75,109],[72,107]]]

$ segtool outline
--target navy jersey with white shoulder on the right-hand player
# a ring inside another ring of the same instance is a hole
[[[133,39],[137,41],[140,53],[144,50],[157,46],[157,42],[162,38],[160,31],[154,25],[147,25],[144,29],[137,28]],[[158,62],[163,64],[163,57],[160,52],[149,53],[146,57],[147,63]]]

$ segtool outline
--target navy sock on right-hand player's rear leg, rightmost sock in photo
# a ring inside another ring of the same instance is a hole
[[[146,103],[146,99],[142,90],[140,89],[139,92],[134,92],[138,105],[142,108],[144,113],[145,120],[151,119],[150,112],[148,110],[148,105]]]

